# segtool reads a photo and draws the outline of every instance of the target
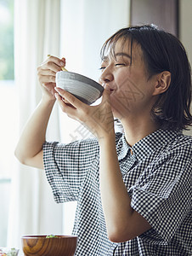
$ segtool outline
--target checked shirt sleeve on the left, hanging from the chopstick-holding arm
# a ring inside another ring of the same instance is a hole
[[[98,153],[94,139],[43,144],[44,169],[56,202],[77,200],[84,177]]]

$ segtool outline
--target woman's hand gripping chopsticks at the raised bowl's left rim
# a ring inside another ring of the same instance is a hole
[[[37,76],[42,86],[42,94],[48,96],[49,99],[55,99],[55,76],[57,72],[62,70],[61,67],[65,67],[65,58],[59,59],[52,55],[48,56],[47,60],[37,67]]]

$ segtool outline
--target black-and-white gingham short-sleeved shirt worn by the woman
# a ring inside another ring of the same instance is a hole
[[[77,201],[76,255],[192,255],[192,137],[158,130],[128,146],[116,133],[116,152],[131,207],[151,225],[133,240],[115,243],[106,234],[99,191],[99,143],[45,143],[44,167],[58,203]],[[107,181],[106,181],[107,182]]]

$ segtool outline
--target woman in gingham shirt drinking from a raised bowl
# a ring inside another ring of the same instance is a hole
[[[57,202],[77,201],[76,255],[191,253],[190,67],[183,45],[155,26],[127,27],[101,50],[102,102],[88,106],[55,88],[65,59],[38,67],[42,101],[15,150],[44,168]],[[95,135],[46,142],[55,97]],[[115,133],[114,117],[123,133]]]

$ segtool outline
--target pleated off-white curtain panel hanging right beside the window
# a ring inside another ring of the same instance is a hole
[[[41,98],[37,66],[48,54],[59,56],[60,1],[15,0],[15,83],[20,101],[20,131]],[[59,140],[54,108],[48,137]],[[20,237],[62,233],[62,206],[54,202],[42,170],[18,163],[14,171],[8,221],[8,246],[20,247]]]

